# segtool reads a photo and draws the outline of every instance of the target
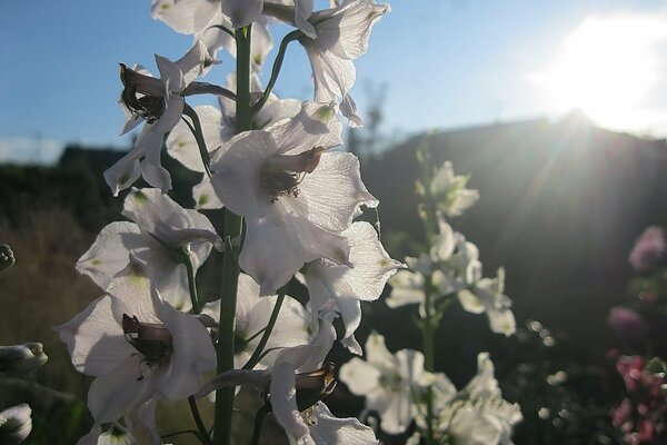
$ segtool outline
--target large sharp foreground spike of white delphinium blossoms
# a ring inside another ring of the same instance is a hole
[[[321,398],[336,385],[326,362],[335,340],[361,353],[355,338],[360,301],[377,299],[404,267],[372,225],[357,221],[379,204],[361,181],[358,159],[331,150],[342,145],[340,116],[361,125],[349,95],[354,61],[390,9],[375,0],[332,0],[319,11],[313,3],[152,1],[153,18],[192,36],[193,46],[177,61],[156,56],[159,77],[141,66],[120,67],[122,132],[142,128],[104,179],[115,196],[127,194],[122,215],[131,221],[109,224],[79,259],[77,269],[103,295],[56,327],[74,367],[94,377],[88,394],[94,425],[79,444],[136,443],[137,425],[160,444],[160,433],[172,432],[156,425],[157,404],[182,399],[202,444],[228,444],[223,422],[232,409],[222,413],[225,388],[239,385],[262,394],[261,409],[272,413],[291,444],[377,443],[371,428],[336,418]],[[293,30],[262,87],[277,22]],[[310,60],[311,101],[272,92],[290,42]],[[216,82],[222,50],[237,67]],[[219,106],[191,107],[187,99],[195,95],[213,95]],[[161,162],[165,147],[201,174],[191,185],[193,209],[167,195],[172,177]],[[140,178],[150,188],[136,188]],[[225,214],[223,231],[202,209]],[[238,222],[236,235],[230,221]],[[213,250],[223,255],[222,297],[200,300],[197,271]],[[285,295],[295,276],[308,289],[307,304]],[[341,324],[338,338],[334,323]],[[230,340],[231,357],[225,355]],[[196,397],[212,390],[220,413],[205,425]]]

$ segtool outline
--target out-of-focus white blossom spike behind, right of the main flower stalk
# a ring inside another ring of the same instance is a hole
[[[431,246],[417,258],[406,258],[409,268],[389,279],[392,290],[386,303],[390,308],[419,305],[425,350],[391,354],[385,338],[374,333],[366,343],[366,360],[352,358],[345,364],[340,379],[352,394],[366,397],[367,412],[379,416],[384,432],[401,434],[415,425],[411,445],[511,444],[521,412],[502,399],[487,353],[477,357],[477,376],[458,392],[432,366],[435,332],[452,299],[469,313],[486,313],[494,333],[509,336],[516,324],[511,300],[504,294],[504,269],[496,278],[482,278],[477,247],[445,220],[472,206],[479,198],[477,190],[466,188],[468,177],[455,176],[450,162],[431,171],[428,152],[421,149],[418,159],[425,165],[425,178],[417,185],[422,197],[419,212]]]

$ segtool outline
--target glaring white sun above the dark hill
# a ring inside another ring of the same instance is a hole
[[[552,106],[579,108],[610,128],[641,127],[641,102],[657,79],[654,48],[666,37],[665,21],[656,18],[586,19],[542,77]]]

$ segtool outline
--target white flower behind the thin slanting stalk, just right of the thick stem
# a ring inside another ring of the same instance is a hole
[[[278,296],[259,296],[259,285],[246,274],[239,275],[236,313],[236,342],[242,347],[235,355],[235,367],[241,368],[257,348],[263,329],[269,323]],[[202,314],[220,319],[220,300],[205,305]],[[310,314],[295,298],[286,295],[271,336],[265,346],[262,356],[255,369],[265,369],[273,365],[276,356],[283,348],[306,345],[310,337]]]

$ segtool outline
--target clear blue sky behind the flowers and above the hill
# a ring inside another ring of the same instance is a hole
[[[394,135],[557,116],[563,110],[539,79],[568,36],[593,17],[666,12],[653,0],[395,0],[391,7],[357,63],[352,91],[364,109],[365,85],[386,85],[384,130]],[[118,137],[118,63],[155,70],[153,53],[177,59],[191,42],[152,20],[149,0],[0,0],[0,159],[49,161],[67,142],[127,145]],[[667,44],[658,48],[667,59]],[[310,71],[298,46],[286,66],[279,96],[309,98]],[[229,67],[226,59],[207,80],[223,83]],[[651,97],[667,108],[665,91]],[[667,132],[660,128],[638,131]]]

